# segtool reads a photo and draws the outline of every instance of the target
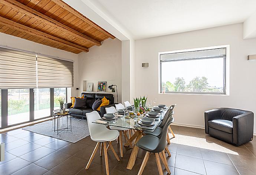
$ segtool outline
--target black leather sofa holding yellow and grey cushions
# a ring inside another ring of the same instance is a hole
[[[85,108],[79,108],[79,109],[73,109],[70,108],[72,106],[72,103],[64,103],[64,108],[69,109],[71,112],[71,115],[78,118],[86,118],[86,113],[92,112],[92,104],[97,99],[102,99],[104,96],[106,99],[109,100],[109,105],[101,106],[100,111],[97,110],[97,112],[103,117],[103,115],[106,113],[105,108],[108,108],[110,106],[115,106],[116,103],[114,103],[114,95],[109,93],[82,93],[81,96],[84,95],[86,98]]]

